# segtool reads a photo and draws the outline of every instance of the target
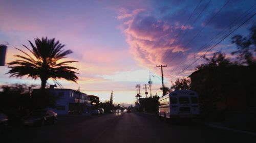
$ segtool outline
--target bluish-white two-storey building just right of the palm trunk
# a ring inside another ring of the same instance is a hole
[[[54,89],[49,91],[57,97],[56,108],[52,110],[58,115],[67,115],[75,112],[86,112],[91,106],[87,94],[71,89]]]

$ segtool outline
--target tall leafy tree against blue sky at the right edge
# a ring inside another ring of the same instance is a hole
[[[256,65],[256,25],[253,25],[250,29],[250,34],[247,37],[242,35],[236,35],[232,37],[232,43],[235,43],[237,50],[231,52],[231,54],[237,54],[238,63],[245,64],[247,66]]]

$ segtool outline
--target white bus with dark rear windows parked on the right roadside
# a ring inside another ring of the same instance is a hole
[[[177,90],[159,98],[159,119],[195,118],[199,115],[198,94],[191,90]]]

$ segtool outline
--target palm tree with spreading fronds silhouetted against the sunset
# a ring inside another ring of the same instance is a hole
[[[65,45],[55,42],[55,39],[47,39],[42,37],[42,39],[34,39],[35,46],[29,41],[32,50],[26,47],[31,53],[32,56],[23,50],[16,48],[17,50],[23,52],[27,56],[14,55],[19,60],[8,63],[8,67],[11,68],[8,73],[10,77],[23,77],[27,75],[32,79],[41,79],[41,89],[46,88],[46,82],[49,78],[60,85],[57,79],[64,78],[75,83],[78,77],[75,67],[71,67],[68,64],[77,62],[77,61],[65,61],[59,62],[61,59],[67,58],[67,55],[72,53],[71,50],[62,49]],[[60,85],[61,86],[61,85]]]

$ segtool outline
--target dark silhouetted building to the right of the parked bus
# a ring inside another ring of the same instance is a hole
[[[256,107],[256,68],[245,66],[212,67],[193,72],[191,90],[205,104],[220,110],[244,110]]]

